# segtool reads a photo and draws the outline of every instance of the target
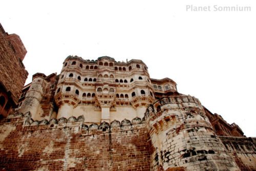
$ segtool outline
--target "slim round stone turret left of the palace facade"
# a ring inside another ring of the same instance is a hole
[[[37,109],[40,105],[42,94],[44,93],[42,83],[44,79],[36,77],[33,79],[31,86],[26,94],[25,100],[22,103],[20,112],[22,113],[31,113],[31,117],[36,118]]]

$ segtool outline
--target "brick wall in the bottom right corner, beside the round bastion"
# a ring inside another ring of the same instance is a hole
[[[241,170],[256,170],[256,138],[220,137]]]

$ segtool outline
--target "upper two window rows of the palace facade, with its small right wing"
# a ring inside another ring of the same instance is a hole
[[[147,66],[141,60],[132,59],[127,62],[117,62],[111,57],[99,57],[97,60],[84,60],[69,56],[63,62],[59,83],[70,80],[80,82],[80,85],[117,86],[129,90],[138,86],[146,86],[157,93],[177,91],[176,83],[168,78],[151,79]],[[68,80],[67,80],[68,78]]]

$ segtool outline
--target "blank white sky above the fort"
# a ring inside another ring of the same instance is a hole
[[[211,11],[186,11],[187,5]],[[250,12],[214,11],[214,5]],[[69,55],[141,59],[212,113],[256,136],[256,1],[2,1],[0,22],[20,36],[32,75],[60,73]]]

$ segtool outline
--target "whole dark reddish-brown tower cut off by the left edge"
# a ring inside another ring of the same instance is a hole
[[[0,23],[0,119],[16,107],[28,77],[23,59],[27,50],[16,34],[8,34]]]

